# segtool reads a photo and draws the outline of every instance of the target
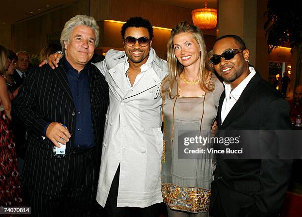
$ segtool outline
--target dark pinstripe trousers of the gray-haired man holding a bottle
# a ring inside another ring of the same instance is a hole
[[[96,165],[94,148],[73,153],[70,157],[68,178],[56,195],[29,190],[32,216],[89,217],[96,200]],[[59,180],[60,181],[60,180]]]

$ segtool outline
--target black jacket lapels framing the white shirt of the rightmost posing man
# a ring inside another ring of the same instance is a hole
[[[233,108],[228,112],[226,119],[220,125],[221,129],[226,128],[228,125],[230,125],[234,120],[236,120],[237,117],[239,117],[245,111],[245,108],[247,108],[248,103],[249,103],[248,102],[249,97],[250,97],[251,93],[254,91],[254,88],[257,85],[257,83],[259,82],[260,78],[261,77],[258,73],[256,73],[252,77],[250,82],[244,88],[244,90],[243,90],[242,94],[240,95],[238,101],[235,103]],[[222,108],[222,104],[223,104],[224,99],[225,99],[225,92],[222,94],[222,96],[223,95],[224,95],[224,97],[223,98],[221,97],[220,102],[219,102],[220,121],[221,121],[221,108]]]

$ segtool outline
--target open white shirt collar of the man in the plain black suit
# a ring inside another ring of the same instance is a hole
[[[239,99],[239,97],[241,96],[241,94],[242,94],[243,90],[245,89],[245,87],[247,86],[247,84],[250,82],[252,77],[256,74],[256,71],[253,67],[249,67],[249,70],[250,70],[249,75],[246,78],[244,78],[244,80],[241,81],[237,85],[237,87],[235,87],[233,90],[232,90],[230,84],[227,84],[226,82],[224,82],[227,101],[230,99],[230,97],[233,97],[236,101]]]

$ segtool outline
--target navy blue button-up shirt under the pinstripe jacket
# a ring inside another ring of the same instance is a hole
[[[76,130],[74,150],[83,150],[95,145],[91,119],[88,63],[80,73],[63,57],[64,68],[76,107]]]

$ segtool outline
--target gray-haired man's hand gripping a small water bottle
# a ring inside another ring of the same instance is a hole
[[[69,141],[71,137],[67,127],[58,122],[51,122],[46,130],[46,137],[57,147],[60,145],[57,142],[60,142],[63,145]]]

